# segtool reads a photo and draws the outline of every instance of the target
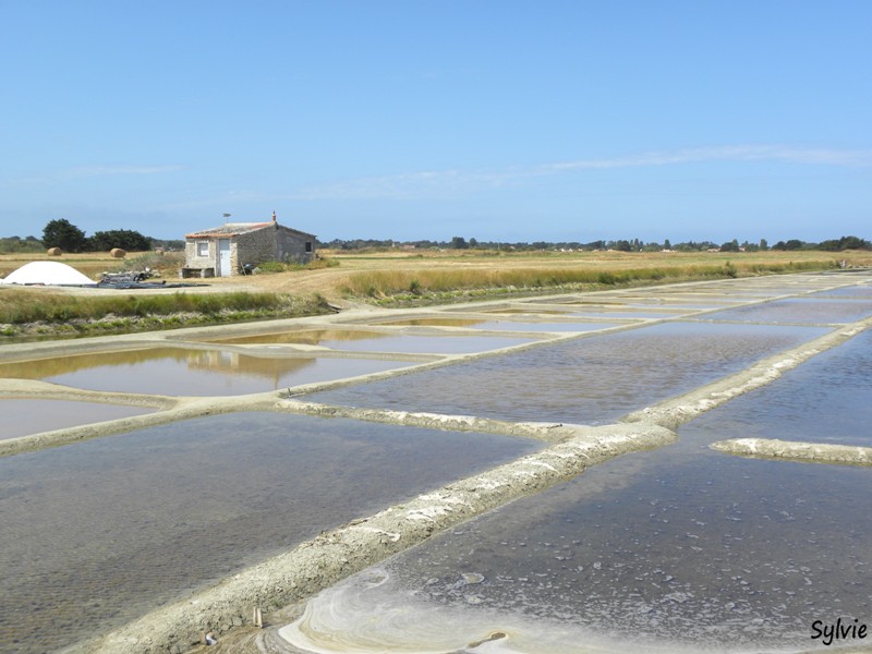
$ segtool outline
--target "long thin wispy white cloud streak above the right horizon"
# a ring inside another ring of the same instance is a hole
[[[501,171],[425,171],[396,175],[352,179],[332,184],[300,189],[289,199],[416,199],[438,197],[495,189],[532,178],[555,175],[572,171],[646,168],[701,164],[707,161],[772,161],[782,164],[838,166],[849,168],[872,167],[871,150],[840,150],[827,148],[798,148],[784,145],[731,145],[679,150],[661,150],[545,164],[533,168]]]

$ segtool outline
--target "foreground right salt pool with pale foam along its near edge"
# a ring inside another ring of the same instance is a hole
[[[283,633],[318,652],[495,633],[481,651],[768,652],[868,622],[872,471],[720,455],[692,424],[350,578]]]

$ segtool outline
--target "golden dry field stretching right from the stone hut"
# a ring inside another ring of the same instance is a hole
[[[338,266],[220,283],[251,283],[262,291],[317,292],[331,302],[408,304],[487,299],[512,293],[596,290],[724,277],[872,265],[872,252],[500,252],[319,251]]]

